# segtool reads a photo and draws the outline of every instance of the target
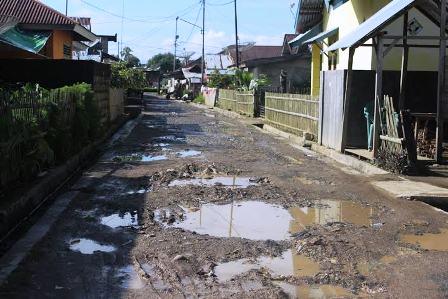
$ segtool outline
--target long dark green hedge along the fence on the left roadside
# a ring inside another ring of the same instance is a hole
[[[23,99],[35,107],[22,108],[28,106]],[[100,112],[88,84],[0,89],[0,101],[15,105],[0,113],[0,190],[67,160],[101,133]]]

